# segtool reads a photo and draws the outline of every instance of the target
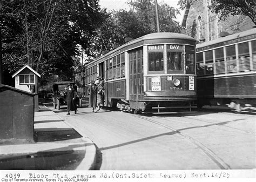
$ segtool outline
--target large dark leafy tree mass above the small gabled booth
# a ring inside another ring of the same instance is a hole
[[[4,1],[2,5],[5,75],[30,64],[41,73],[42,83],[54,75],[72,80],[80,54],[77,45],[90,54],[91,39],[103,22],[98,1]]]

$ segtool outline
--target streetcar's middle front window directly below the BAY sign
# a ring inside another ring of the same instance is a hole
[[[182,52],[167,52],[167,70],[183,70]]]

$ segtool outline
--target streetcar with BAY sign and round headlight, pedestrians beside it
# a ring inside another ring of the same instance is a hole
[[[134,39],[86,65],[86,91],[99,75],[104,106],[134,113],[190,107],[197,100],[195,46],[195,39],[179,33]]]

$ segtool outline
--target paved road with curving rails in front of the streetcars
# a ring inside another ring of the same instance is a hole
[[[255,168],[255,116],[195,112],[139,116],[79,108],[59,116],[98,147],[100,170]]]

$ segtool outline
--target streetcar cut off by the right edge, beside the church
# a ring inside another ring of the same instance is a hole
[[[197,44],[198,107],[229,106],[254,111],[256,29]]]

